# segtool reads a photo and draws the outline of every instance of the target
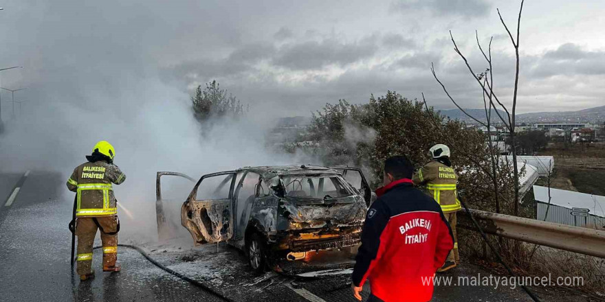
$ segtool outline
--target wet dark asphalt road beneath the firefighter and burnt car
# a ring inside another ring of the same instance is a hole
[[[122,264],[119,273],[100,272],[101,253],[95,251],[96,279],[80,283],[69,265],[71,234],[67,223],[71,220],[72,200],[61,198],[71,196],[65,194],[65,180],[56,172],[25,174],[0,172],[0,301],[221,301],[168,275],[127,248],[118,248]],[[153,202],[149,205],[153,207]],[[239,251],[225,245],[194,247],[187,237],[162,243],[141,243],[135,235],[120,237],[120,243],[133,242],[162,264],[205,283],[232,301],[356,301],[347,287],[347,273],[310,280],[276,272],[256,275]],[[465,264],[448,276],[478,274],[486,276],[490,272]],[[589,301],[581,295],[538,290],[543,301]],[[368,294],[366,286],[364,297]],[[433,301],[531,300],[518,287],[436,286]]]

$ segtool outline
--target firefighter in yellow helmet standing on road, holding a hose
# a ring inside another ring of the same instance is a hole
[[[76,192],[76,227],[78,236],[78,254],[76,271],[80,280],[94,277],[91,269],[92,246],[97,229],[101,233],[103,244],[103,271],[119,272],[118,259],[118,220],[117,200],[113,196],[112,184],[120,185],[126,176],[113,164],[115,149],[107,141],[99,141],[87,162],[78,165],[67,180],[69,191]]]

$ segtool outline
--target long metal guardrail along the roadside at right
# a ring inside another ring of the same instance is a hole
[[[605,258],[605,231],[474,209],[470,211],[485,233]],[[465,211],[460,211],[459,216],[462,218],[459,227],[477,231]]]

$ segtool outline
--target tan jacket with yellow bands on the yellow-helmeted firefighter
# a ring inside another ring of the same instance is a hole
[[[78,165],[67,180],[67,189],[77,194],[77,217],[113,216],[118,213],[113,186],[126,176],[117,165],[96,161]]]

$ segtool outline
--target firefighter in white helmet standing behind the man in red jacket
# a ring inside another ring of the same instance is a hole
[[[448,255],[445,264],[438,272],[445,272],[460,264],[458,255],[458,235],[456,234],[456,211],[461,209],[460,200],[456,191],[458,175],[452,168],[450,161],[450,148],[443,144],[432,146],[429,150],[432,161],[427,163],[414,176],[415,185],[426,185],[427,193],[441,205],[445,218],[450,223],[454,234],[454,248]]]

